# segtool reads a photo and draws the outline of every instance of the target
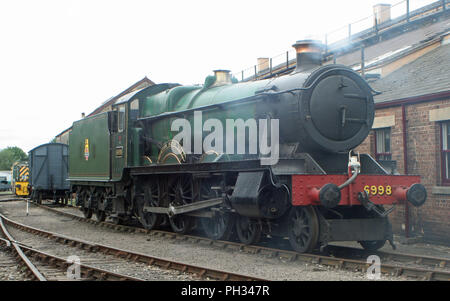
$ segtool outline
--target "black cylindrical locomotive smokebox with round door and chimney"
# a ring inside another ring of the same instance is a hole
[[[277,88],[284,106],[277,106],[283,143],[296,143],[298,152],[348,152],[364,141],[372,127],[372,89],[349,67],[322,66],[320,41],[297,41],[293,47],[295,71],[268,85]],[[294,90],[298,92],[291,93]]]

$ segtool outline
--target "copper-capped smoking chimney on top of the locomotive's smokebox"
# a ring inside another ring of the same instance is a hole
[[[297,53],[295,73],[316,68],[322,65],[323,44],[317,40],[297,41],[292,47]]]

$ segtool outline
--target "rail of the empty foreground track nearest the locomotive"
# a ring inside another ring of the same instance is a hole
[[[0,214],[0,216],[1,216],[1,214]],[[177,270],[177,271],[181,271],[181,272],[185,272],[185,273],[189,273],[189,274],[195,274],[195,275],[198,275],[200,278],[212,278],[212,279],[222,280],[222,281],[225,281],[225,280],[227,280],[227,281],[268,281],[267,279],[263,279],[263,278],[258,278],[258,277],[248,276],[248,275],[241,275],[241,274],[237,274],[237,273],[221,271],[221,270],[216,270],[216,269],[207,268],[207,267],[196,266],[196,265],[177,262],[177,261],[173,261],[173,260],[169,260],[169,259],[165,259],[165,258],[161,258],[161,257],[150,256],[150,255],[143,254],[143,253],[114,248],[114,247],[107,246],[107,245],[91,243],[88,241],[82,241],[82,240],[71,238],[71,237],[68,237],[65,235],[60,235],[60,234],[57,234],[54,232],[49,232],[49,231],[41,230],[41,229],[38,229],[35,227],[27,226],[22,223],[8,219],[4,216],[2,216],[2,217],[5,221],[5,223],[7,223],[13,227],[16,227],[20,230],[23,230],[23,231],[26,231],[26,232],[29,232],[32,234],[36,234],[36,235],[45,236],[47,238],[51,238],[51,239],[55,240],[56,242],[68,244],[72,247],[80,247],[80,248],[82,248],[84,250],[88,250],[90,252],[102,252],[107,255],[113,255],[113,256],[116,256],[119,258],[132,260],[135,262],[146,263],[148,265],[153,265],[153,266],[157,266],[157,267],[164,268],[164,269],[172,269],[172,270]],[[32,250],[31,248],[27,248],[27,250],[30,250],[30,252],[34,252],[34,250]],[[46,254],[45,256],[50,256],[50,255]],[[88,269],[93,269],[93,268],[89,267]]]

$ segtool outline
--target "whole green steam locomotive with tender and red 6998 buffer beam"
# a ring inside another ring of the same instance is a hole
[[[213,239],[236,233],[247,244],[278,236],[298,252],[346,240],[367,249],[386,240],[394,246],[387,216],[396,204],[425,202],[419,176],[388,174],[353,151],[371,130],[374,91],[348,67],[321,66],[315,41],[294,47],[291,74],[236,83],[216,70],[203,86],[150,86],[123,96],[110,112],[74,122],[69,180],[85,216],[135,216],[147,229],[170,224],[178,233],[201,226]],[[231,143],[231,152],[192,152],[189,137],[176,139],[180,119],[192,137],[207,138],[199,113],[224,125],[215,131],[236,121],[233,135],[214,136],[216,146]],[[234,142],[249,146],[253,138],[251,122],[237,120],[277,120],[278,137],[266,133],[272,144],[279,138],[275,164],[262,164],[261,151],[236,152]]]

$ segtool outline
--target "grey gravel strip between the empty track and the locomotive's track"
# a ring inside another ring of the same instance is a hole
[[[122,233],[72,220],[24,202],[0,203],[0,212],[14,221],[70,237],[145,253],[187,264],[252,275],[269,280],[368,280],[363,272],[339,270],[318,264],[283,261],[238,250],[219,249],[143,233]],[[69,210],[74,210],[73,208]],[[74,249],[77,255],[77,249]],[[179,279],[183,280],[183,279]],[[186,279],[187,280],[187,279]],[[381,280],[404,280],[381,276]]]

